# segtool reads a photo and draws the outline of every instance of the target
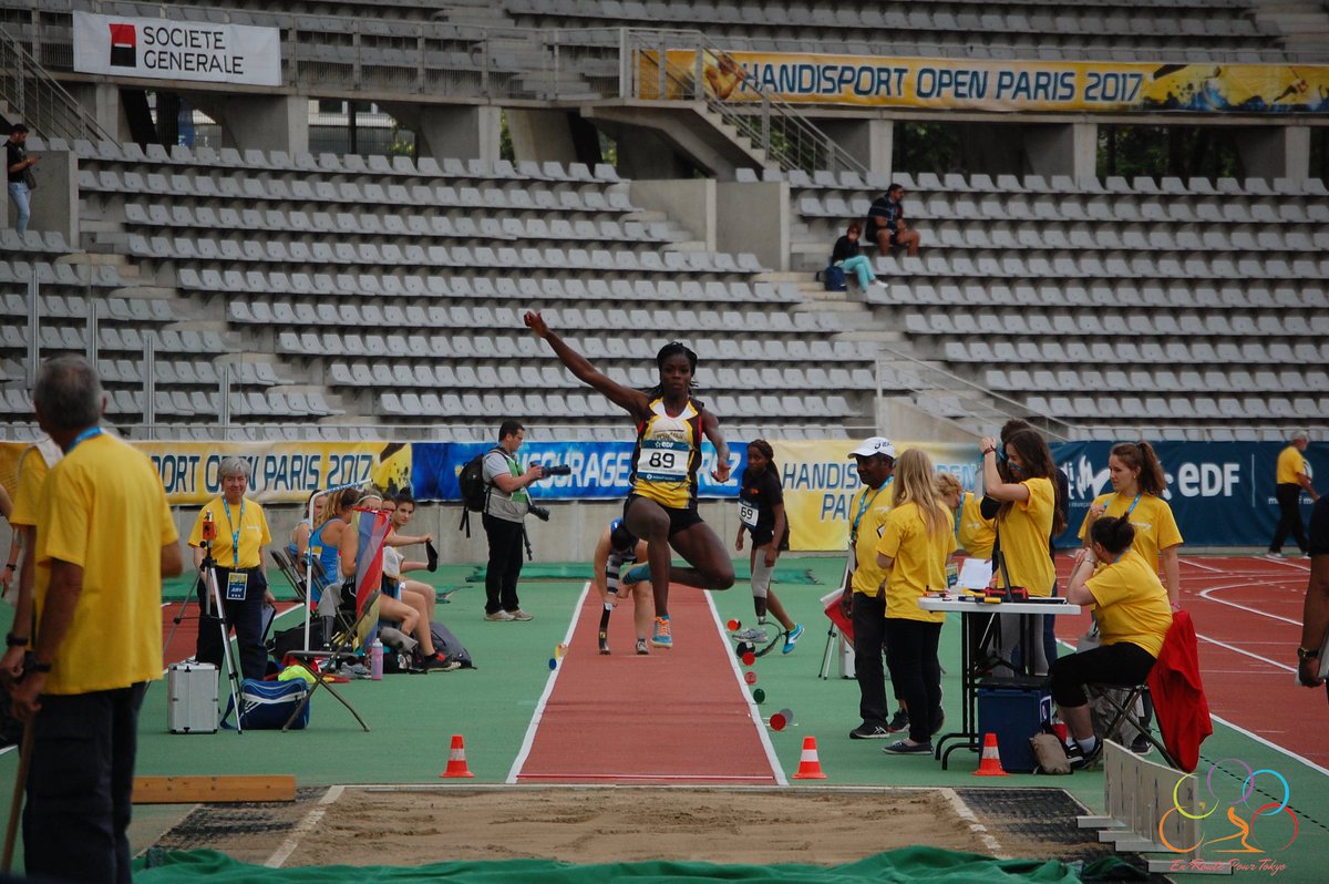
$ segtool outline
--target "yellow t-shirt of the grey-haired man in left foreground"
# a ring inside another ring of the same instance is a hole
[[[89,694],[161,678],[161,552],[179,540],[152,461],[109,435],[51,468],[37,518],[37,561],[82,568],[73,622],[44,690]],[[36,590],[37,623],[49,573]]]

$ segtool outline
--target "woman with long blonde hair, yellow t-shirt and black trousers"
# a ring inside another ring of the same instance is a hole
[[[909,710],[909,736],[884,751],[932,754],[941,728],[941,663],[937,642],[946,615],[925,611],[918,600],[946,589],[946,560],[956,550],[954,521],[937,493],[932,459],[910,448],[896,464],[890,513],[877,542],[877,565],[886,572],[886,666]]]

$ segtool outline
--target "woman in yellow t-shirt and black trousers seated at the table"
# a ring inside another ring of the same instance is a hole
[[[1102,751],[1084,685],[1139,685],[1154,669],[1172,626],[1167,590],[1134,541],[1128,520],[1103,516],[1090,528],[1090,546],[1080,550],[1071,570],[1066,598],[1092,606],[1100,634],[1098,647],[1053,665],[1053,699],[1079,748],[1071,754],[1073,767],[1092,763]]]

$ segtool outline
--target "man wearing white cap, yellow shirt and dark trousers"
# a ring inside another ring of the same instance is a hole
[[[909,727],[904,710],[900,720],[889,719],[886,674],[881,662],[886,631],[886,594],[881,584],[886,573],[877,565],[877,540],[890,512],[890,480],[896,469],[896,447],[889,439],[873,436],[849,455],[859,464],[863,489],[849,501],[849,574],[841,605],[851,608],[853,619],[853,670],[859,679],[859,715],[863,724],[849,731],[849,739],[885,739]]]

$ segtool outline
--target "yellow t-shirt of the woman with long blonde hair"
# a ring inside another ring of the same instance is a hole
[[[941,513],[937,530],[928,533],[918,504],[906,501],[892,509],[882,524],[877,553],[894,561],[886,572],[886,617],[940,623],[945,611],[925,611],[918,600],[929,589],[946,589],[946,558],[956,552],[956,525],[949,509]]]

